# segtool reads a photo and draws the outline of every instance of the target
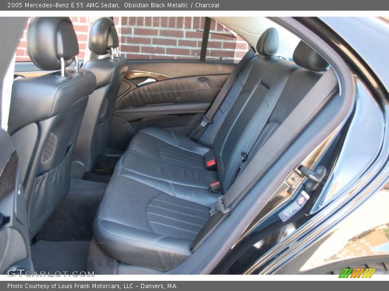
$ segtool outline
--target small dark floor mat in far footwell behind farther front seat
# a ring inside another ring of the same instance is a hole
[[[119,159],[119,157],[102,158],[95,164],[90,172],[84,174],[83,179],[94,182],[108,183]]]

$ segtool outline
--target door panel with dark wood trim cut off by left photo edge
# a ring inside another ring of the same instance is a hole
[[[0,145],[0,274],[10,268],[33,271],[18,155],[2,129]]]

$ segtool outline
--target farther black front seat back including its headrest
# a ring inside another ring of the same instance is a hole
[[[119,38],[112,19],[102,17],[91,26],[89,49],[110,56],[90,60],[84,69],[96,75],[96,90],[89,97],[72,162],[72,177],[81,178],[92,169],[108,144],[112,109],[118,96],[128,61],[118,56]]]

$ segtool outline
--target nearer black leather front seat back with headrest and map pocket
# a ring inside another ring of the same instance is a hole
[[[66,69],[78,54],[69,17],[34,18],[27,50],[37,67],[55,71],[15,80],[11,96],[8,131],[19,156],[34,236],[69,191],[71,155],[96,78],[77,67]]]

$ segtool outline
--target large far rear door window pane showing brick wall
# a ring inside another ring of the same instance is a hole
[[[199,60],[205,17],[114,17],[127,59]]]

